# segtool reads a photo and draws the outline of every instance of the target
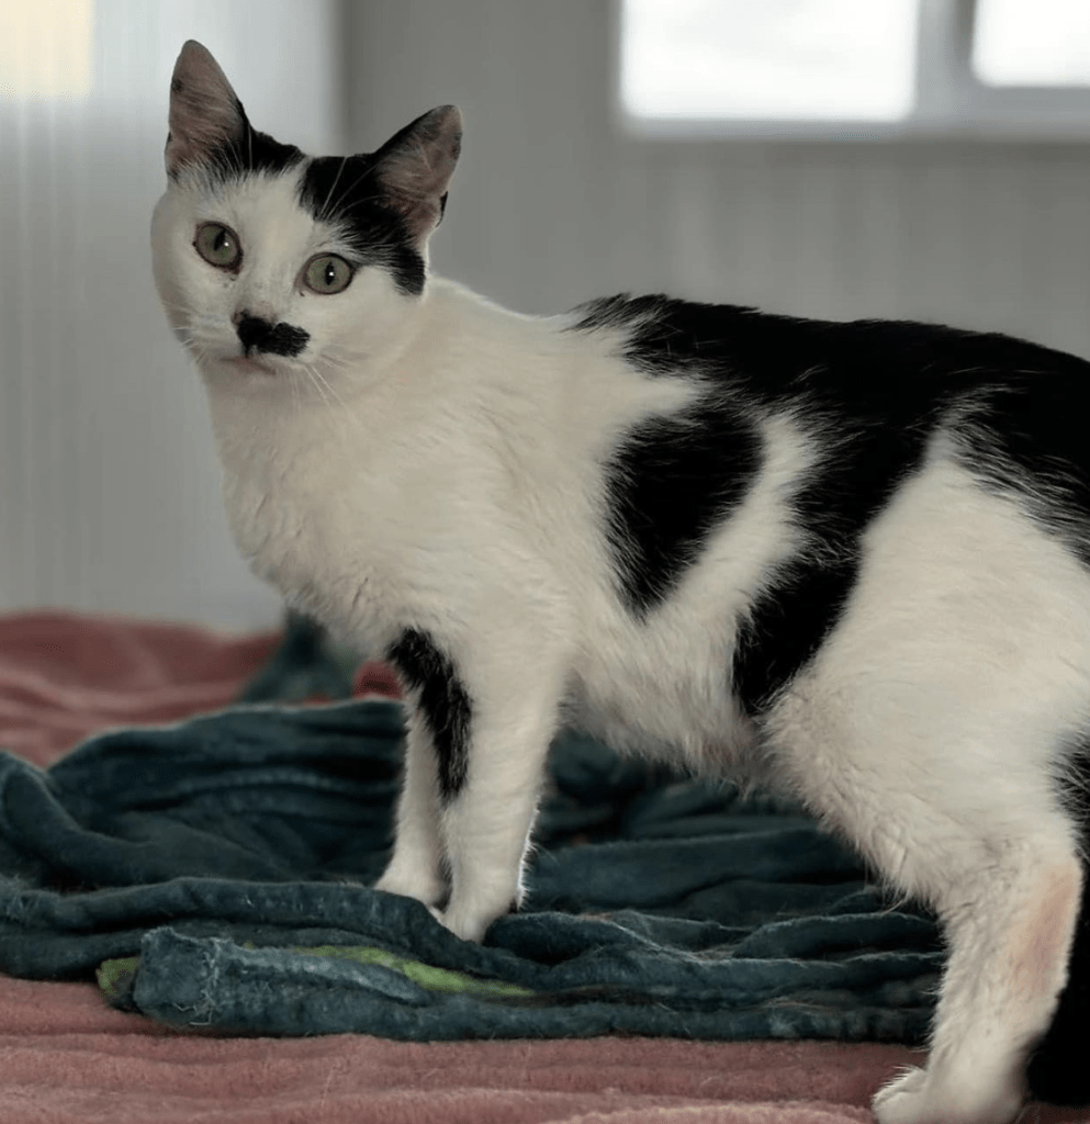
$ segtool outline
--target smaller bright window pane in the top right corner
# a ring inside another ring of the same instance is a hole
[[[989,85],[1090,85],[1090,2],[977,0],[973,71]]]

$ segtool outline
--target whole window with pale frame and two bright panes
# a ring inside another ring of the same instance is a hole
[[[644,136],[1090,138],[1090,0],[619,0]]]

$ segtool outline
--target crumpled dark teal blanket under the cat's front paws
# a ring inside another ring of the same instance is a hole
[[[524,910],[480,945],[369,888],[393,703],[238,707],[0,754],[0,969],[233,1033],[919,1041],[936,927],[772,799],[564,735]]]

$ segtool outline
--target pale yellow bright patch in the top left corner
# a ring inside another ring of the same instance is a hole
[[[0,98],[91,89],[93,0],[0,0]]]

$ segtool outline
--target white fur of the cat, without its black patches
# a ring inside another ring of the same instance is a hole
[[[182,175],[154,221],[155,274],[208,387],[239,549],[364,653],[428,629],[473,700],[469,779],[436,797],[409,716],[398,843],[380,887],[476,940],[521,892],[549,740],[565,717],[709,770],[770,769],[881,874],[946,922],[932,1061],[883,1091],[883,1124],[1012,1118],[1065,979],[1081,887],[1053,774],[1090,703],[1090,579],[939,434],[864,541],[844,618],[767,719],[728,692],[737,620],[808,543],[789,500],[821,456],[805,418],[756,418],[756,486],[676,590],[637,620],[606,553],[602,465],[633,423],[698,392],[619,357],[608,330],[517,316],[436,278],[421,298],[365,269],[336,297],[302,264],[342,248],[293,175]],[[193,251],[237,232],[237,277]],[[231,316],[305,328],[300,359],[231,362]],[[875,378],[881,372],[875,372]]]

